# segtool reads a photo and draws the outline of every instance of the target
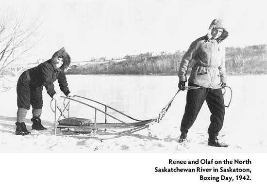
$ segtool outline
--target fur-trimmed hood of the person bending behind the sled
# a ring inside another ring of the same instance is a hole
[[[63,57],[64,63],[61,67],[57,68],[56,67],[56,61],[57,61],[58,57],[60,57],[60,56]],[[54,69],[56,69],[58,71],[66,71],[67,70],[67,68],[70,64],[70,57],[67,54],[65,47],[62,47],[60,50],[58,50],[54,53],[54,55],[51,58],[51,63],[53,65]]]

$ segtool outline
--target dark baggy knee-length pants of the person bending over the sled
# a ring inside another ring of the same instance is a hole
[[[30,77],[24,71],[17,81],[17,107],[29,110],[42,109],[43,107],[43,87],[34,87],[30,84]]]

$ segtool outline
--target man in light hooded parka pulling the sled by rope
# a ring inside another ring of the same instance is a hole
[[[201,86],[201,89],[187,91],[179,142],[186,140],[188,129],[195,122],[200,108],[206,100],[211,112],[208,145],[216,147],[228,146],[220,143],[217,139],[225,114],[223,94],[220,88],[226,86],[223,40],[227,37],[228,31],[224,21],[215,19],[212,21],[208,33],[195,40],[183,56],[178,71],[179,89],[185,89],[188,64],[192,60],[195,61],[195,64],[188,79],[188,86]]]

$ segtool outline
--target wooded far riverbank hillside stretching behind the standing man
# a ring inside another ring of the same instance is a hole
[[[127,55],[124,57],[126,60],[121,62],[89,63],[71,68],[67,74],[177,75],[184,53]],[[192,64],[189,65],[188,74]],[[228,74],[267,74],[267,45],[226,47],[226,69]]]

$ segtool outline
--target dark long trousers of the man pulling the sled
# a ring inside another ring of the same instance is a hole
[[[198,85],[193,83],[188,83],[188,86]],[[222,128],[225,106],[223,100],[223,94],[221,89],[194,89],[188,90],[186,95],[186,105],[184,110],[184,116],[181,123],[181,132],[187,134],[188,129],[195,122],[198,113],[206,100],[209,110],[211,112],[210,116],[210,126],[208,128],[209,135],[217,136]]]

